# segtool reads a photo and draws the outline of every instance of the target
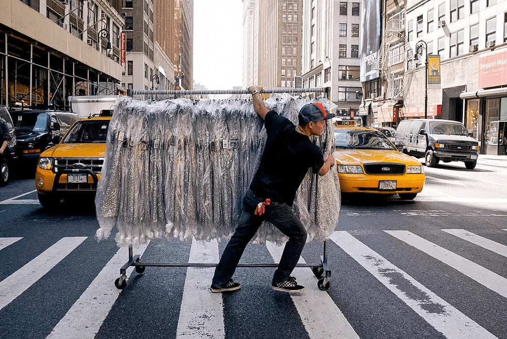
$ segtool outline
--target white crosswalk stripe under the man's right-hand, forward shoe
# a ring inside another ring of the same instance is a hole
[[[273,242],[267,242],[266,246],[273,259],[280,261],[283,247]],[[299,262],[305,263],[305,260],[300,258]],[[301,295],[292,295],[292,300],[310,338],[359,337],[329,294],[317,288],[317,280],[310,269],[296,268],[294,276],[305,286],[305,291]]]

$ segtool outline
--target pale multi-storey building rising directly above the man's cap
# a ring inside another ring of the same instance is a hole
[[[355,118],[362,94],[359,0],[304,0],[303,6],[302,86],[330,87],[333,112]]]

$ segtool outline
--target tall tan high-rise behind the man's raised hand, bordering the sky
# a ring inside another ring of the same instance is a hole
[[[292,88],[301,72],[303,1],[243,0],[243,85]]]

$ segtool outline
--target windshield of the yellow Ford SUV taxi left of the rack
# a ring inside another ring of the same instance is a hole
[[[105,143],[109,120],[78,121],[62,143]]]

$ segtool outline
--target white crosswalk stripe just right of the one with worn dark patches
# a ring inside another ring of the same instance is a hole
[[[384,231],[507,298],[507,279],[408,231]]]

